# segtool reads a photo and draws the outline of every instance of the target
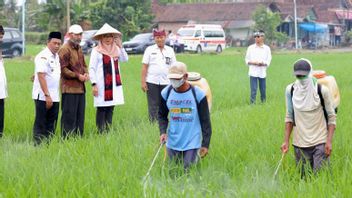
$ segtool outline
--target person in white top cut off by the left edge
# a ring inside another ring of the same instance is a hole
[[[5,34],[4,28],[0,25],[0,137],[4,131],[4,111],[5,111],[5,98],[7,97],[7,83],[6,74],[4,68],[4,62],[2,59],[1,44],[2,38]]]

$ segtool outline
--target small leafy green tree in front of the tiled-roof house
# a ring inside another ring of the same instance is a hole
[[[269,42],[286,42],[288,40],[286,34],[277,31],[277,27],[282,22],[279,13],[273,13],[263,5],[260,5],[253,13],[252,19],[255,22],[253,28],[255,30],[263,30],[265,38]]]

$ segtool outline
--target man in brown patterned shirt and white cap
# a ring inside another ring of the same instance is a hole
[[[84,60],[80,42],[82,27],[72,25],[69,30],[70,39],[59,50],[61,64],[61,93],[62,93],[62,136],[69,134],[83,135],[84,113],[86,106],[85,85],[89,80],[88,69]]]

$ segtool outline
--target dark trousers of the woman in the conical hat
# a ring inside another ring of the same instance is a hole
[[[112,124],[112,116],[114,113],[114,106],[97,107],[97,114],[95,123],[97,124],[98,132],[108,132]]]

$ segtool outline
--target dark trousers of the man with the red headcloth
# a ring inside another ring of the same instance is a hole
[[[149,112],[149,120],[151,122],[158,121],[158,111],[159,105],[161,102],[161,91],[167,85],[157,85],[152,83],[147,83],[148,91],[147,91],[147,100],[148,100],[148,112]]]

